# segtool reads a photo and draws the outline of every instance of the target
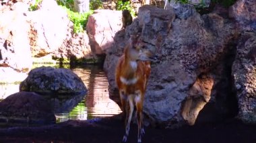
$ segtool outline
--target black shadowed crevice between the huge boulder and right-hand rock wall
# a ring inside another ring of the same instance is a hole
[[[212,92],[214,101],[209,103],[200,111],[196,122],[225,122],[236,117],[238,113],[238,99],[232,77],[232,64],[236,57],[236,42],[230,42],[229,48],[224,56],[220,58],[220,64],[213,69],[216,83]]]

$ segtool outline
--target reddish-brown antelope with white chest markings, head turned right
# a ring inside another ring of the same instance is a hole
[[[119,89],[123,115],[125,117],[123,142],[127,142],[134,107],[137,110],[137,142],[141,142],[141,134],[145,134],[142,123],[142,108],[151,71],[150,61],[153,61],[152,52],[141,48],[137,38],[135,38],[133,42],[130,41],[125,46],[124,54],[117,63],[115,81]]]

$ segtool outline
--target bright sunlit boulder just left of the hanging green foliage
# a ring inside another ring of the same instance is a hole
[[[58,50],[69,34],[67,12],[56,1],[44,0],[36,11],[27,12],[30,46],[33,56],[45,56]]]

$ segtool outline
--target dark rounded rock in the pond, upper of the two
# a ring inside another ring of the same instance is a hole
[[[86,92],[86,86],[72,70],[39,67],[28,73],[20,84],[20,91],[32,91],[52,97],[72,97]]]

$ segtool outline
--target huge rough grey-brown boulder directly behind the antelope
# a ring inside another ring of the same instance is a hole
[[[129,36],[141,35],[146,48],[160,56],[152,65],[143,111],[154,124],[171,127],[184,121],[195,124],[204,105],[215,101],[218,91],[214,84],[224,76],[214,69],[235,48],[227,45],[237,37],[232,21],[216,13],[200,16],[189,5],[180,8],[172,11],[150,5],[140,7],[138,18],[126,33],[116,34],[116,43],[104,62],[113,94],[110,97],[119,101],[113,71]]]

